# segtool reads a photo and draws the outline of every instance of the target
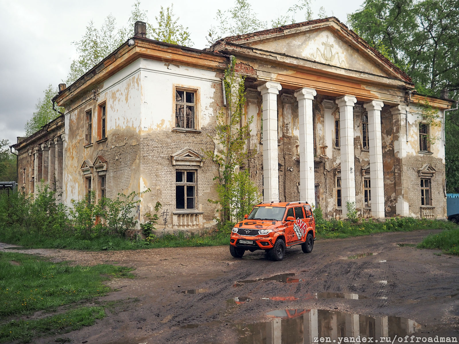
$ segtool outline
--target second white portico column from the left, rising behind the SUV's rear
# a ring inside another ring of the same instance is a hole
[[[300,127],[300,201],[314,204],[314,129],[313,99],[315,89],[302,88],[295,92],[298,100],[298,120]]]

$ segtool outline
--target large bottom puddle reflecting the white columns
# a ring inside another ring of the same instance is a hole
[[[420,329],[420,324],[398,316],[366,316],[339,311],[282,309],[266,314],[274,318],[237,326],[239,344],[313,343],[315,337],[405,336]]]

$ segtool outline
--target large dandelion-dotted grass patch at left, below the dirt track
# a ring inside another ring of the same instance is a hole
[[[32,255],[0,252],[0,322],[104,295],[111,289],[103,281],[110,276],[134,277],[131,270],[106,264],[70,266]]]

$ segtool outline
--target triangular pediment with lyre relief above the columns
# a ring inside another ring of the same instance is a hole
[[[391,61],[335,17],[231,36],[221,41],[382,77],[411,81]],[[217,46],[217,43],[214,45]]]

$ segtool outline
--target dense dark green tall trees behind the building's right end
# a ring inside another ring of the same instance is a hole
[[[459,0],[365,0],[348,22],[370,45],[407,72],[421,94],[459,97]],[[445,119],[448,192],[459,193],[457,111]]]

